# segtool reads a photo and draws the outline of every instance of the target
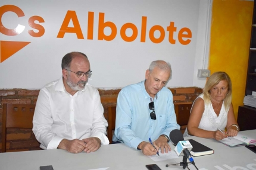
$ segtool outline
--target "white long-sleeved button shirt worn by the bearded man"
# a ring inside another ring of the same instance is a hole
[[[65,91],[61,77],[40,89],[33,133],[42,149],[56,149],[63,139],[88,137],[98,137],[102,145],[108,145],[108,123],[103,113],[96,88],[86,84],[85,89],[72,96]]]

